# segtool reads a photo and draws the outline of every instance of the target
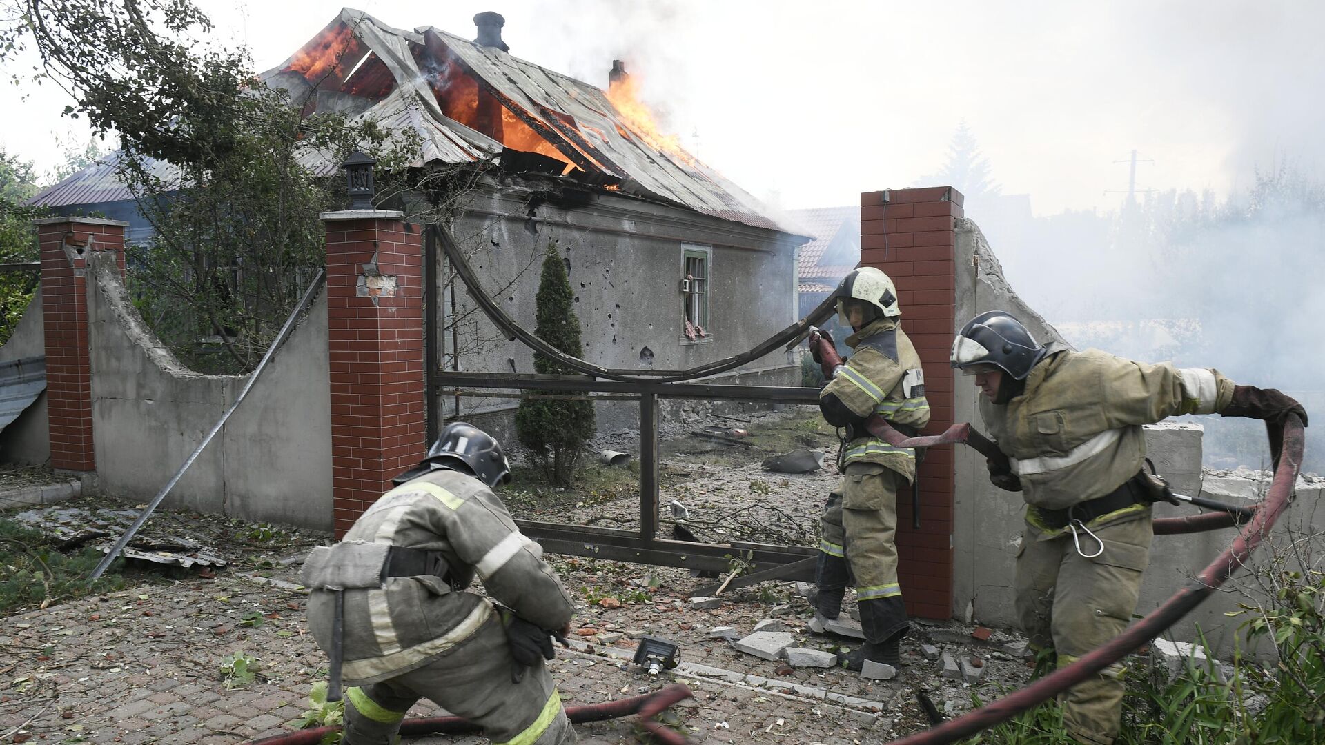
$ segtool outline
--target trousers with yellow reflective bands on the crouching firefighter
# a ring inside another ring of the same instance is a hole
[[[510,648],[497,614],[466,642],[432,663],[398,677],[344,692],[344,745],[391,745],[419,699],[484,729],[494,745],[575,742],[553,675],[542,664],[511,683]]]

